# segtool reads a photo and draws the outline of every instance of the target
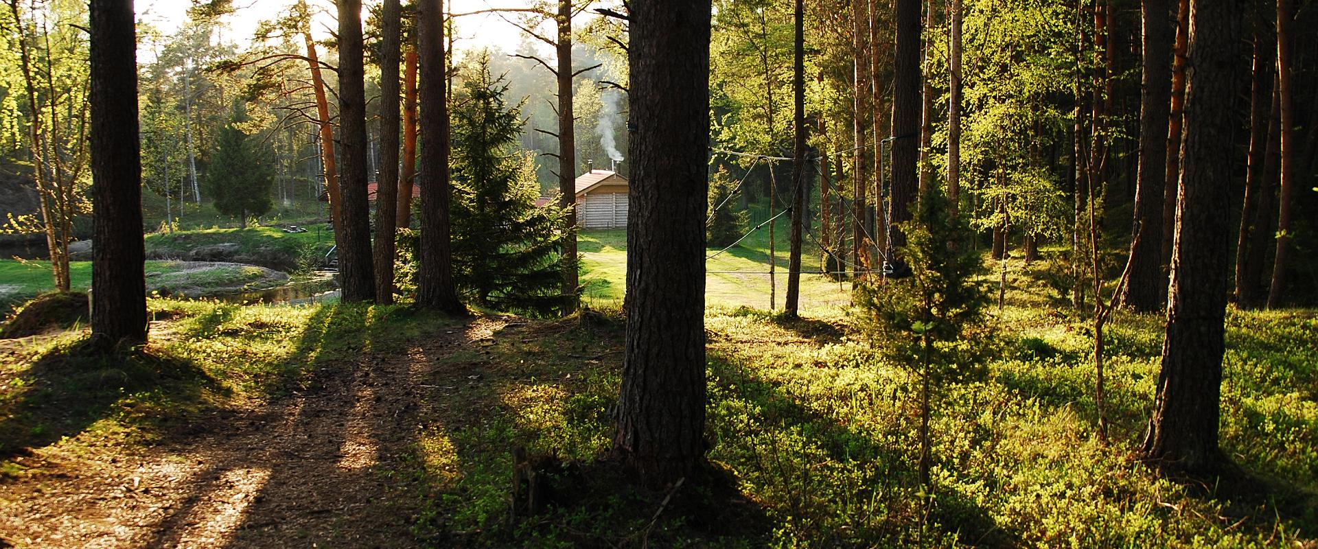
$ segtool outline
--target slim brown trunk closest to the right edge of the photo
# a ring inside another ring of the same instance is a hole
[[[1296,134],[1294,75],[1290,61],[1290,25],[1294,22],[1292,0],[1277,0],[1277,100],[1281,113],[1281,195],[1277,197],[1277,253],[1272,259],[1272,284],[1268,288],[1268,308],[1282,305],[1286,296],[1286,270],[1290,269],[1290,203],[1296,194],[1296,161],[1300,140]]]

